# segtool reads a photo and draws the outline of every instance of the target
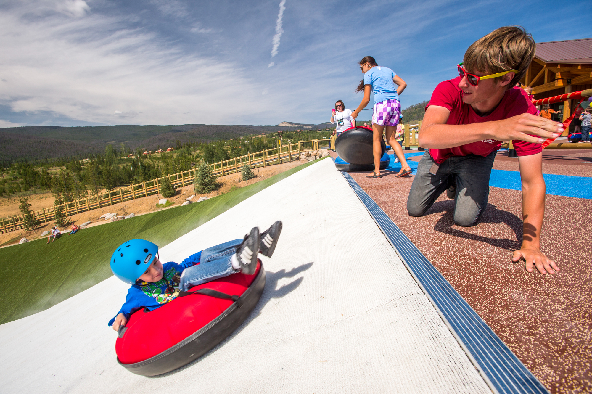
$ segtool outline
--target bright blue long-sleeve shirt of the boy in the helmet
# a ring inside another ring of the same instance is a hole
[[[121,309],[115,317],[109,321],[109,325],[113,325],[118,314],[124,314],[126,319],[130,319],[130,315],[138,309],[146,308],[153,311],[165,303],[173,301],[179,294],[179,279],[181,273],[186,268],[194,266],[200,262],[201,250],[198,253],[192,254],[181,264],[173,261],[162,264],[162,279],[158,282],[150,282],[147,285],[131,285],[127,290],[126,302],[121,306]]]

